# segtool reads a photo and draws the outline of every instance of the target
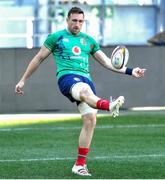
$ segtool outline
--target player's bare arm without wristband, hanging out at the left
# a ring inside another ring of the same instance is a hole
[[[23,87],[25,85],[26,80],[36,71],[39,65],[51,54],[51,51],[42,46],[39,52],[33,57],[30,61],[25,73],[23,74],[21,80],[15,86],[15,92],[19,95],[23,95]]]

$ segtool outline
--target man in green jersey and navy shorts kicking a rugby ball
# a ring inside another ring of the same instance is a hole
[[[71,8],[66,22],[66,29],[47,37],[16,85],[15,92],[23,95],[26,80],[52,53],[57,65],[59,89],[71,102],[76,102],[82,115],[83,125],[79,136],[78,157],[72,172],[81,176],[91,176],[87,169],[86,157],[96,125],[97,110],[110,111],[116,117],[119,115],[119,108],[124,103],[124,97],[120,96],[110,102],[96,95],[89,72],[89,55],[109,70],[137,78],[144,76],[145,69],[127,67],[115,69],[110,59],[100,49],[99,44],[91,36],[80,32],[84,23],[84,12],[80,8]]]

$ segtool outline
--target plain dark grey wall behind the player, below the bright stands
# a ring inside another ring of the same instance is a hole
[[[128,46],[128,67],[146,68],[145,77],[135,79],[113,73],[91,59],[91,75],[97,94],[125,96],[124,108],[135,106],[165,106],[165,48]],[[102,48],[111,54],[113,47]],[[76,105],[63,97],[58,89],[56,67],[52,56],[39,67],[27,81],[20,97],[15,94],[15,84],[20,80],[31,58],[38,49],[0,49],[0,113],[61,111],[78,112]]]

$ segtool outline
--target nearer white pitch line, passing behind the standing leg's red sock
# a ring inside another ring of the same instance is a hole
[[[112,155],[89,157],[90,160],[109,160],[109,159],[143,159],[143,158],[164,158],[165,154],[141,154],[141,155]],[[34,162],[34,161],[65,161],[75,160],[74,157],[54,157],[54,158],[34,158],[34,159],[0,159],[0,163],[5,162]]]

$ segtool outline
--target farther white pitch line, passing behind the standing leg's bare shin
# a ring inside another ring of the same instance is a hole
[[[96,129],[113,129],[113,128],[163,128],[165,127],[165,124],[146,124],[146,125],[103,125],[103,126],[96,126]],[[40,130],[73,130],[73,129],[81,129],[80,126],[75,126],[75,127],[48,127],[48,128],[0,128],[0,132],[8,132],[8,131],[40,131]]]

